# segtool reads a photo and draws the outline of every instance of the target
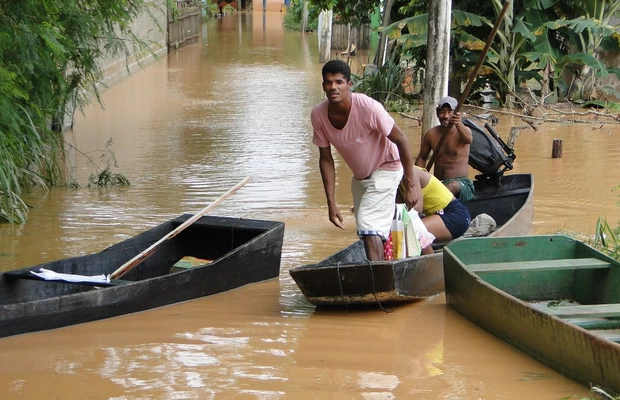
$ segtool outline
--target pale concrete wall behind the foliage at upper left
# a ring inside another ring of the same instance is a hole
[[[154,53],[165,55],[168,52],[168,11],[166,9],[166,0],[153,0],[152,16],[144,14],[138,17],[132,24],[131,29],[136,36],[150,43],[150,47]],[[153,20],[155,17],[156,21]],[[158,26],[159,25],[159,26]],[[99,66],[103,71],[103,83],[110,86],[119,80],[127,77],[127,65],[130,71],[135,72],[140,68],[137,61],[148,63],[154,60],[151,54],[142,54],[139,57],[132,54],[129,60],[125,54],[116,56],[108,56],[99,61]],[[103,88],[102,88],[103,89]]]

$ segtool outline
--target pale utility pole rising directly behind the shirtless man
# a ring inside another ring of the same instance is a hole
[[[422,135],[439,124],[437,102],[448,94],[452,0],[431,0],[428,13]]]

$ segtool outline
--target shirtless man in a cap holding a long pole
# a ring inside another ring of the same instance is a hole
[[[471,130],[463,125],[461,113],[454,113],[458,102],[453,97],[444,97],[437,103],[437,118],[439,125],[424,135],[420,146],[420,154],[415,165],[424,168],[431,150],[435,150],[439,139],[448,131],[439,153],[435,158],[435,176],[459,199],[462,203],[474,197],[474,184],[467,177],[469,161],[469,147],[473,140]]]

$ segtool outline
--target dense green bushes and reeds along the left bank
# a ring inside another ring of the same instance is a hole
[[[29,187],[67,184],[62,121],[99,99],[98,60],[152,52],[131,31],[139,15],[156,20],[152,7],[148,0],[0,2],[0,219],[26,220],[21,195]]]

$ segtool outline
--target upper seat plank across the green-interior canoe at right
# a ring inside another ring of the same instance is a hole
[[[511,272],[511,271],[560,271],[577,269],[610,268],[611,264],[598,258],[568,258],[563,260],[536,260],[502,262],[489,264],[471,264],[471,272]]]

